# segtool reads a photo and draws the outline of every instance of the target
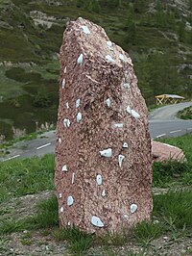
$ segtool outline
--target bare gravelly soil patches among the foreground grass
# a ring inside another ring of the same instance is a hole
[[[160,192],[159,190],[157,193]],[[165,192],[165,190],[162,190]],[[3,218],[25,218],[33,216],[36,212],[36,203],[49,198],[54,192],[40,192],[14,198],[0,205]],[[0,216],[1,220],[1,216]],[[54,229],[12,233],[0,236],[0,256],[69,256],[67,242],[57,242],[53,237]],[[108,252],[108,250],[110,252]],[[128,242],[124,246],[106,249],[101,246],[93,246],[84,254],[86,256],[129,256],[128,251],[142,253],[139,255],[155,256],[190,256],[192,255],[192,234],[184,232],[180,234],[170,233],[162,236],[149,244]],[[110,254],[113,251],[113,254]]]

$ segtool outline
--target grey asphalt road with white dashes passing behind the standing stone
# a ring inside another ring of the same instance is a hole
[[[192,106],[192,102],[169,105],[156,109],[149,115],[149,127],[152,139],[178,137],[186,133],[192,133],[192,120],[181,120],[176,114]],[[43,156],[54,153],[56,131],[46,132],[33,141],[20,141],[10,149],[10,154],[0,158],[1,162],[10,161],[15,158],[27,158],[32,156]]]

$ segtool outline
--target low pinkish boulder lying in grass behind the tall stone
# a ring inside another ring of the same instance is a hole
[[[184,153],[179,147],[158,141],[152,141],[152,156],[155,162],[166,162],[170,159],[177,161],[185,160]]]

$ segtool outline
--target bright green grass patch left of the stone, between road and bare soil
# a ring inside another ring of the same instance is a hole
[[[53,190],[54,155],[1,163],[0,202],[24,194]]]

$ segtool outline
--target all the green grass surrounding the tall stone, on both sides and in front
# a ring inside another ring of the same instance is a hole
[[[154,193],[151,221],[143,221],[135,225],[132,230],[122,228],[119,233],[108,233],[100,237],[86,234],[75,226],[60,229],[58,201],[53,194],[39,201],[33,214],[18,218],[15,209],[21,204],[19,196],[54,190],[54,155],[45,155],[41,159],[35,157],[2,163],[0,166],[0,241],[5,245],[5,236],[9,236],[12,232],[22,232],[20,243],[30,246],[34,243],[35,232],[40,231],[43,234],[49,234],[55,242],[66,243],[71,255],[138,256],[146,255],[145,253],[148,252],[149,255],[156,255],[156,251],[150,254],[154,248],[152,244],[156,239],[164,236],[168,238],[170,244],[177,244],[187,238],[191,239],[192,192],[188,187],[192,180],[191,140],[192,135],[163,140],[180,146],[187,162],[177,163],[170,160],[167,164],[154,165],[154,186],[158,189],[166,188],[168,191]],[[172,190],[169,190],[170,187]],[[14,207],[10,206],[12,202]],[[129,247],[127,248],[130,242],[142,250],[140,252],[130,250]],[[119,248],[122,246],[125,249],[120,254]],[[2,250],[3,248],[2,246]],[[159,248],[156,249],[159,250]],[[188,246],[187,250],[190,251],[191,247]]]

